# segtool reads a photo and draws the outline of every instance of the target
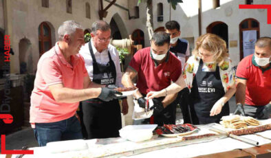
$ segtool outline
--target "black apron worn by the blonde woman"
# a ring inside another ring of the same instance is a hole
[[[191,89],[191,117],[193,124],[219,123],[224,115],[230,114],[228,102],[224,104],[221,113],[210,116],[210,110],[217,100],[225,95],[224,87],[219,75],[219,67],[213,72],[202,71],[204,63],[199,62],[197,74],[193,79]]]

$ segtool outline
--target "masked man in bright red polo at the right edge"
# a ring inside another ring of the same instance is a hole
[[[239,63],[235,113],[268,119],[271,113],[270,57],[271,38],[262,37],[255,43],[255,53]]]

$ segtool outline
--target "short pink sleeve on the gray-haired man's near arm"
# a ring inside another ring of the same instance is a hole
[[[47,86],[62,83],[63,76],[52,58],[45,58],[41,63],[41,76]]]

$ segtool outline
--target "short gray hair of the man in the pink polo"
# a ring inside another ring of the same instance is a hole
[[[76,32],[76,29],[83,30],[83,26],[76,21],[64,21],[62,25],[58,27],[59,40],[62,41],[65,34],[69,34],[70,36],[72,36]]]

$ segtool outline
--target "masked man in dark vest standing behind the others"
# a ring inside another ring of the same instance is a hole
[[[182,63],[182,69],[184,68],[184,64],[186,63],[188,57],[190,56],[189,51],[189,43],[185,39],[180,38],[180,24],[177,21],[168,21],[166,22],[166,33],[171,36],[171,48],[169,49],[171,52],[177,56],[177,58]],[[182,115],[184,118],[184,123],[192,123],[191,116],[188,109],[188,88],[182,89],[178,93],[177,100],[179,100],[180,108],[182,109]]]

